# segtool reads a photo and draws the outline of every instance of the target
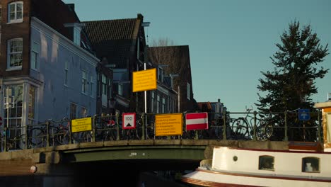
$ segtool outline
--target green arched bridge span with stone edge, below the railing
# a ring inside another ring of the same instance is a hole
[[[288,149],[287,145],[243,140],[119,140],[23,149],[0,153],[0,180],[3,176],[18,180],[19,176],[44,184],[74,181],[75,186],[78,181],[93,183],[95,177],[105,182],[110,176],[129,177],[120,182],[123,185],[137,183],[141,171],[193,170],[212,158],[214,146]]]

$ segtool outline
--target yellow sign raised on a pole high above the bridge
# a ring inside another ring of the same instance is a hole
[[[156,68],[133,72],[132,90],[137,92],[157,89],[156,81]]]

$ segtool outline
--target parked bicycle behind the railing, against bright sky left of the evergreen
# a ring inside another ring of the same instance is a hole
[[[252,109],[246,108],[247,114],[244,117],[237,118],[232,123],[232,131],[235,137],[243,139],[252,139],[254,124],[256,124],[256,137],[257,140],[265,141],[272,137],[274,126],[267,123],[267,118],[264,115],[260,115],[260,118],[250,115]]]

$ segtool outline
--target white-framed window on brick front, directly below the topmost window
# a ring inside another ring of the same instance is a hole
[[[8,40],[7,69],[21,69],[22,68],[22,53],[23,53],[23,40],[16,38]]]

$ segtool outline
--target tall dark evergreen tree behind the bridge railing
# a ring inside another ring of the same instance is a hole
[[[277,52],[270,57],[275,66],[274,71],[261,72],[263,78],[259,79],[260,85],[257,89],[262,94],[257,94],[259,99],[255,105],[262,113],[290,111],[286,116],[288,126],[302,126],[305,123],[306,127],[313,127],[317,123],[317,115],[312,115],[310,121],[300,122],[294,112],[298,108],[316,112],[310,96],[318,92],[315,79],[323,78],[329,70],[323,69],[319,64],[329,54],[328,45],[320,45],[320,39],[310,26],[300,28],[298,21],[290,23],[289,30],[285,30],[280,39],[281,43],[276,44]],[[284,115],[272,115],[269,120],[269,123],[284,127]],[[292,128],[289,132],[290,139],[307,140],[308,137],[301,135],[307,132],[314,133],[311,129],[302,131]],[[274,135],[281,139],[284,137],[284,130]]]

